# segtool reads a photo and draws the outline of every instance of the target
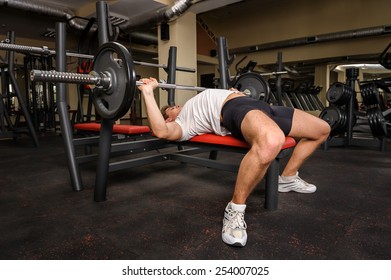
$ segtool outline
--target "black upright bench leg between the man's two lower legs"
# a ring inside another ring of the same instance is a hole
[[[277,210],[278,207],[278,175],[279,175],[279,159],[274,159],[265,177],[265,208],[267,210]]]

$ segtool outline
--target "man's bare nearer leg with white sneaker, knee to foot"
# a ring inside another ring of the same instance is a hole
[[[240,163],[234,194],[225,209],[222,229],[223,241],[233,246],[246,245],[246,200],[285,143],[281,129],[259,110],[246,114],[241,130],[251,148]]]

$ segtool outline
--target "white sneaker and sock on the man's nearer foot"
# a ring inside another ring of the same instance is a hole
[[[243,247],[247,243],[245,209],[246,205],[237,205],[232,202],[225,207],[221,236],[228,245]]]

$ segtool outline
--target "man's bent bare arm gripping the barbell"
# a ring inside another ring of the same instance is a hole
[[[148,121],[156,137],[167,140],[179,140],[182,137],[182,128],[176,122],[167,123],[156,103],[153,90],[158,82],[154,78],[142,79],[144,84],[139,86],[144,97],[145,107],[147,109]]]

